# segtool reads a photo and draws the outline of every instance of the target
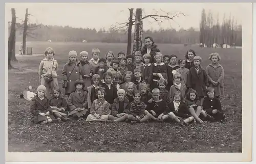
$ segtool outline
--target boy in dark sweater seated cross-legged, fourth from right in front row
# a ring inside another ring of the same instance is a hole
[[[168,119],[169,108],[165,101],[160,99],[160,90],[155,88],[152,90],[152,102],[146,106],[145,114],[151,113],[155,121],[162,121]],[[157,118],[156,118],[157,117]]]

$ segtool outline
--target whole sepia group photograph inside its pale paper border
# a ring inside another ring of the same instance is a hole
[[[6,4],[8,152],[242,153],[241,7]]]

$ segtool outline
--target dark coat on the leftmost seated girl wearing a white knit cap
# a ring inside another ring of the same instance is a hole
[[[48,117],[54,120],[55,117],[52,115],[52,109],[50,107],[49,99],[44,96],[44,99],[40,100],[40,98],[35,95],[35,97],[33,97],[30,102],[30,112],[33,115],[31,118],[31,122],[40,123],[42,121],[46,121],[47,116],[41,116],[39,115],[39,113],[46,114],[48,111],[50,112],[50,115]]]

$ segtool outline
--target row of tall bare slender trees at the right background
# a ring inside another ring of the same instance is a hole
[[[238,24],[234,17],[224,15],[222,23],[219,22],[219,14],[214,19],[213,13],[205,10],[201,13],[200,43],[212,47],[218,45],[242,46],[242,25]]]

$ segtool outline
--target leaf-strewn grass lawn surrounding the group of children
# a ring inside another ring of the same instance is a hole
[[[68,52],[97,47],[102,57],[107,50],[117,54],[126,49],[123,43],[28,43],[33,53],[43,53],[52,46],[56,51],[58,74],[68,60]],[[200,48],[198,46],[159,44],[163,54],[183,58],[188,48],[209,64],[208,54],[218,52],[225,71],[225,97],[221,100],[226,113],[224,123],[205,122],[180,127],[176,123],[88,123],[69,120],[65,123],[37,125],[29,120],[29,102],[19,95],[39,85],[38,66],[43,56],[17,57],[8,71],[8,151],[9,152],[242,152],[242,49]],[[18,52],[19,43],[16,44]],[[59,85],[61,76],[58,77]]]

